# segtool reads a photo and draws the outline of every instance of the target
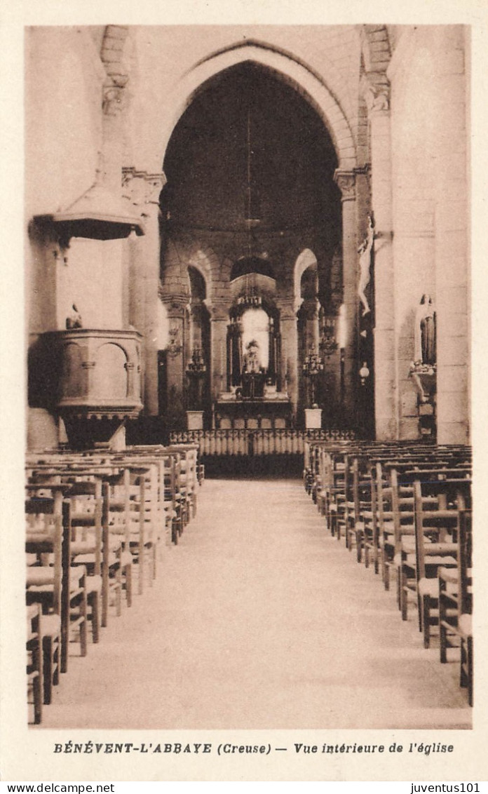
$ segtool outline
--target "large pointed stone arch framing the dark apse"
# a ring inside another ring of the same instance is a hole
[[[351,129],[339,102],[325,83],[322,83],[308,67],[291,56],[251,42],[217,52],[208,59],[200,61],[183,75],[171,97],[173,114],[168,118],[167,126],[163,129],[163,156],[175,125],[203,83],[219,72],[236,64],[242,64],[244,61],[252,61],[266,67],[276,77],[294,87],[313,106],[323,121],[336,149],[339,168],[355,168],[355,144]],[[163,157],[161,159],[163,160]]]

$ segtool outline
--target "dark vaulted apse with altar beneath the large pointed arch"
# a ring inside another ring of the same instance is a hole
[[[189,322],[184,307],[174,321],[206,361],[204,410],[216,426],[259,422],[263,410],[272,424],[290,423],[301,410],[295,263],[313,250],[313,299],[330,295],[337,166],[303,92],[252,61],[203,83],[175,125],[163,162],[161,283],[168,303],[190,295]],[[205,291],[188,268],[196,251],[206,252]],[[181,390],[183,407],[182,372],[186,361],[168,361],[168,389]]]

